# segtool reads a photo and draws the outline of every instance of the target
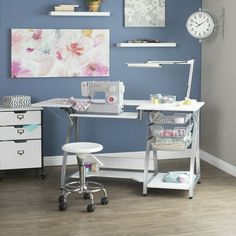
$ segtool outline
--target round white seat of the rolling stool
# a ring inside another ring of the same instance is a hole
[[[75,154],[89,154],[94,152],[100,152],[103,146],[99,143],[89,143],[89,142],[76,142],[67,143],[62,146],[64,152],[70,152]]]

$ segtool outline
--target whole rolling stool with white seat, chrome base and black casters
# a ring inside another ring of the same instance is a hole
[[[61,189],[62,195],[59,196],[59,210],[65,211],[67,208],[67,197],[70,193],[82,193],[85,200],[88,200],[87,211],[95,211],[95,205],[93,201],[92,193],[103,191],[104,197],[101,198],[101,204],[107,205],[109,200],[107,192],[103,184],[86,181],[85,159],[92,157],[97,163],[102,164],[92,153],[99,152],[103,149],[103,146],[98,143],[76,142],[68,143],[62,146],[64,151],[62,172],[61,172]],[[67,154],[76,154],[78,167],[79,167],[79,181],[75,181],[72,178],[65,180]]]

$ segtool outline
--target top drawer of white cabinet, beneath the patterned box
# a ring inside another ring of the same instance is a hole
[[[0,126],[41,124],[41,111],[0,112]]]

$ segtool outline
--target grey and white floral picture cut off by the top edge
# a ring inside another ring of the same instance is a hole
[[[165,27],[165,0],[125,0],[126,27]]]

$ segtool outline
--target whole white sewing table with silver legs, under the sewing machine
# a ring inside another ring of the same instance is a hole
[[[88,101],[88,99],[79,99],[80,101]],[[87,173],[87,177],[97,176],[97,177],[111,177],[111,178],[126,178],[133,179],[138,182],[143,182],[143,194],[147,194],[147,188],[168,188],[168,189],[182,189],[189,190],[189,197],[193,195],[193,188],[197,181],[200,181],[200,158],[199,158],[199,115],[200,109],[204,105],[203,102],[196,102],[192,105],[176,105],[174,104],[151,104],[150,100],[125,100],[125,107],[131,106],[135,107],[137,112],[123,112],[119,115],[109,115],[109,114],[86,114],[86,113],[75,113],[71,109],[71,105],[67,104],[66,99],[55,98],[39,103],[33,104],[35,107],[45,107],[45,108],[61,108],[63,109],[69,118],[69,127],[67,131],[66,143],[71,140],[71,134],[75,130],[75,140],[78,141],[78,121],[79,118],[104,118],[104,119],[142,119],[143,113],[148,114],[151,111],[168,111],[168,112],[189,112],[193,114],[194,120],[194,145],[192,149],[187,149],[185,151],[158,151],[160,154],[160,159],[175,159],[181,153],[180,158],[190,158],[190,184],[170,184],[161,183],[160,179],[156,179],[158,172],[154,169],[154,174],[149,172],[149,157],[150,157],[150,144],[147,142],[147,149],[144,162],[144,172],[140,171],[130,171],[130,170],[111,170],[102,169],[98,173]],[[94,99],[93,102],[104,102],[104,99]],[[145,135],[145,134],[144,134]],[[154,151],[153,156],[157,156],[157,152]],[[159,158],[158,158],[159,159]],[[197,174],[194,178],[194,163],[196,161]],[[157,167],[157,162],[154,160],[154,168]],[[159,175],[160,176],[160,175]],[[78,177],[78,173],[75,173],[73,177]]]

